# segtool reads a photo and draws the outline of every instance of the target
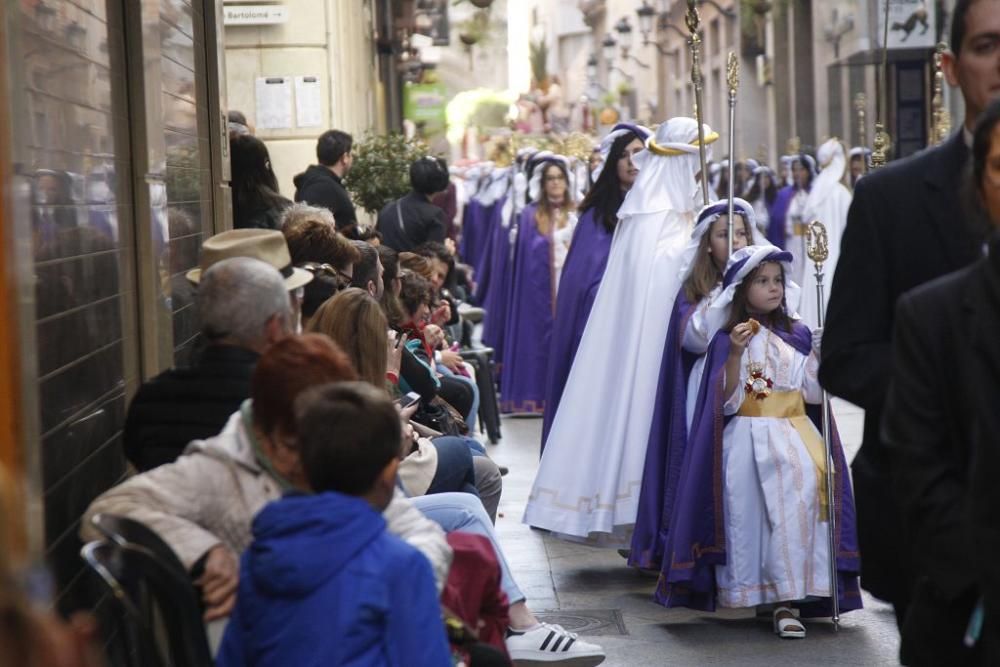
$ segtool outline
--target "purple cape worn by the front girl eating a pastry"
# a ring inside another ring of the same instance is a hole
[[[774,333],[802,354],[811,348],[809,328],[793,325],[791,333]],[[715,610],[715,566],[726,563],[726,531],[722,499],[722,433],[731,417],[722,415],[723,380],[729,356],[729,332],[719,331],[709,345],[705,375],[698,390],[691,436],[681,470],[681,482],[670,520],[663,567],[655,598],[667,607]],[[820,407],[807,405],[809,418],[821,428]],[[836,425],[831,424],[835,449],[834,504],[837,515],[837,570],[840,611],[861,608],[854,496],[847,460]],[[828,598],[795,605],[803,617],[828,616]]]

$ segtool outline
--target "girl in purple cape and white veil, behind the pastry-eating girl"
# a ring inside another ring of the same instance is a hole
[[[715,201],[698,213],[691,241],[681,264],[683,281],[663,349],[656,407],[649,430],[646,463],[639,495],[639,514],[632,533],[629,565],[659,569],[680,467],[687,444],[704,368],[704,355],[715,330],[708,329],[709,304],[722,292],[722,272],[729,260],[729,200]],[[733,228],[733,250],[753,243],[757,235],[754,208],[733,198],[738,221]]]

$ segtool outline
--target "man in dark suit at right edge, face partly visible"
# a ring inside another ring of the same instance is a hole
[[[941,146],[894,163],[857,185],[841,244],[823,334],[820,382],[865,409],[852,465],[861,583],[893,603],[902,624],[912,575],[891,461],[879,435],[890,378],[896,299],[982,255],[982,232],[963,213],[967,132],[1000,90],[1000,0],[958,0],[946,75],[962,89],[965,128]]]

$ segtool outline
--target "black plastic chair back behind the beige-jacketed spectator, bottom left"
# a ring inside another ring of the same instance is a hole
[[[81,555],[107,586],[135,638],[143,667],[211,667],[198,596],[187,576],[151,550],[117,540],[91,542]],[[176,558],[176,557],[175,557]],[[162,628],[163,645],[154,628]]]

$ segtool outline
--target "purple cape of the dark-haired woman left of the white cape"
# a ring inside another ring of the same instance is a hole
[[[552,345],[549,348],[548,372],[545,382],[545,418],[542,422],[542,448],[549,437],[552,420],[562,398],[569,369],[573,366],[576,349],[580,347],[583,329],[594,307],[597,288],[608,265],[613,233],[594,219],[594,209],[580,216],[573,232],[573,241],[563,265],[556,296],[556,317],[552,325]]]

